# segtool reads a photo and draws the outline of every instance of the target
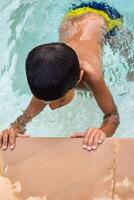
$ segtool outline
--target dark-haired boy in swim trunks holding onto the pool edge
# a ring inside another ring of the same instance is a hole
[[[104,118],[99,128],[71,137],[83,137],[83,148],[95,150],[114,134],[119,115],[103,79],[101,47],[104,36],[113,35],[121,23],[121,15],[104,3],[73,6],[61,25],[60,43],[40,45],[27,57],[26,75],[33,97],[24,113],[1,133],[3,149],[8,145],[14,149],[16,136],[25,137],[26,123],[47,105],[54,110],[71,102],[75,89],[91,89]]]

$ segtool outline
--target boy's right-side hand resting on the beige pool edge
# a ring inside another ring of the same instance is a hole
[[[86,132],[75,132],[71,134],[72,138],[84,138],[83,148],[87,150],[97,149],[98,144],[101,144],[105,138],[105,133],[99,128],[88,128]]]

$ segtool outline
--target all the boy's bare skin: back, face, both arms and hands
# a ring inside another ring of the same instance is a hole
[[[99,128],[87,128],[83,133],[72,133],[71,137],[83,137],[83,148],[95,150],[105,137],[114,134],[119,125],[119,116],[113,97],[105,84],[101,63],[105,30],[105,21],[97,14],[68,18],[62,23],[60,41],[76,51],[80,62],[81,73],[77,86],[56,101],[46,102],[33,96],[26,110],[19,117],[21,122],[15,121],[14,126],[0,133],[0,146],[3,150],[8,147],[11,150],[15,148],[16,137],[24,133],[21,131],[22,124],[26,124],[47,105],[54,110],[70,103],[74,98],[75,89],[92,90],[98,106],[105,115],[105,120]]]

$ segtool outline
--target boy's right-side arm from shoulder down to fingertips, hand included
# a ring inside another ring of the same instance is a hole
[[[103,122],[99,128],[88,128],[83,133],[71,134],[71,137],[74,138],[84,137],[83,148],[87,150],[95,150],[104,141],[105,137],[110,137],[115,133],[120,123],[117,107],[105,84],[100,66],[101,64],[93,66],[89,63],[81,65],[81,69],[84,70],[82,79],[86,86],[92,90],[99,107],[104,113]]]

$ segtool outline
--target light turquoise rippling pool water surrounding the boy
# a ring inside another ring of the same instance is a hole
[[[98,1],[98,0],[97,0]],[[27,53],[58,40],[58,27],[72,0],[1,0],[0,2],[0,130],[22,113],[31,99],[25,75]],[[105,2],[107,2],[105,0]],[[134,137],[134,7],[133,0],[108,0],[124,15],[124,30],[113,50],[104,45],[104,77],[117,104],[121,123],[114,137]],[[124,46],[127,47],[125,50]],[[59,110],[46,108],[27,125],[31,136],[68,136],[99,126],[103,114],[88,93],[77,93]]]

